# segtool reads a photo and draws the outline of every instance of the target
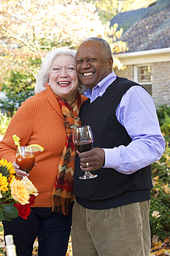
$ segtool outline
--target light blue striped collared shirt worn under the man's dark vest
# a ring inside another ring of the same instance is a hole
[[[92,91],[87,89],[84,95],[90,98],[91,102],[99,96],[102,97],[116,77],[114,72],[110,73]],[[131,174],[161,158],[165,148],[164,138],[153,98],[147,91],[141,86],[132,86],[126,91],[117,106],[116,117],[132,141],[126,147],[120,145],[113,149],[104,149],[104,167]]]

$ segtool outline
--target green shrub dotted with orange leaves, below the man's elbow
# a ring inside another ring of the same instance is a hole
[[[170,187],[169,187],[169,163],[170,147],[166,149],[160,161],[152,165],[153,189],[151,190],[151,236],[159,236],[163,239],[170,236]]]

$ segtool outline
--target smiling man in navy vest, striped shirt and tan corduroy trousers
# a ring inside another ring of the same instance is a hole
[[[80,118],[91,125],[94,144],[77,152],[73,255],[149,256],[151,163],[164,152],[153,99],[140,84],[115,75],[104,39],[85,39],[76,58],[88,87]],[[97,177],[79,179],[85,171]]]

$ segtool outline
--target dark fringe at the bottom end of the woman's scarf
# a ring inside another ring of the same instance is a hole
[[[70,199],[53,194],[53,212],[60,212],[64,215],[70,214]]]

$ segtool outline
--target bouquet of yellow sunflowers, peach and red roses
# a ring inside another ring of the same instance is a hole
[[[0,221],[11,221],[21,216],[27,219],[30,206],[35,203],[37,189],[28,179],[18,179],[12,163],[0,161]]]

